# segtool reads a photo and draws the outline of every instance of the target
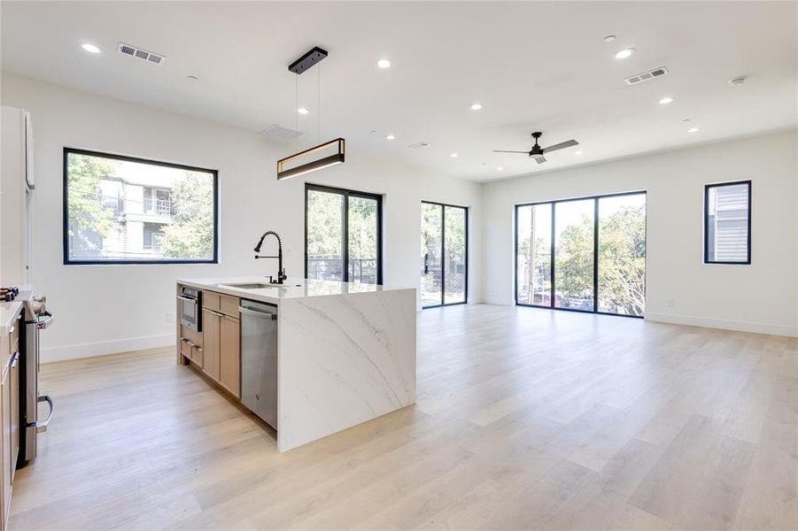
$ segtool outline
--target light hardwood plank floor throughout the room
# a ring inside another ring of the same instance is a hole
[[[21,529],[798,527],[798,340],[419,315],[418,404],[286,454],[172,350],[43,366]]]

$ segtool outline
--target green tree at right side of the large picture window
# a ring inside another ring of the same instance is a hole
[[[186,172],[172,188],[172,223],[161,229],[166,258],[213,257],[213,186],[206,173]]]

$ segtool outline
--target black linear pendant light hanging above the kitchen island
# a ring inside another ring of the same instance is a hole
[[[297,83],[298,76],[316,66],[316,72],[318,73],[316,142],[319,142],[322,114],[322,74],[320,70],[321,67],[317,65],[321,63],[322,59],[326,58],[327,55],[328,54],[326,50],[322,50],[318,46],[315,46],[313,50],[307,51],[305,55],[303,55],[301,58],[298,58],[288,66],[288,69],[292,73],[297,74]],[[298,107],[298,97],[296,104]],[[345,140],[343,138],[336,138],[335,140],[330,140],[329,142],[320,143],[310,149],[299,151],[298,153],[294,153],[286,158],[281,158],[277,161],[277,181],[284,181],[286,179],[291,179],[291,177],[297,177],[298,175],[303,175],[305,173],[321,170],[322,168],[327,168],[331,165],[341,164],[345,161],[345,147]],[[323,157],[319,158],[321,155],[323,155]],[[306,162],[299,165],[294,165],[302,160],[306,160]],[[291,165],[291,167],[286,167],[286,165]]]

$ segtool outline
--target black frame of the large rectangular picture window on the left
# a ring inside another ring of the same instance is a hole
[[[90,157],[110,158],[112,160],[121,160],[125,162],[136,162],[139,164],[159,165],[170,168],[177,168],[181,170],[189,170],[192,172],[211,173],[213,175],[213,258],[170,258],[165,260],[145,260],[145,259],[131,259],[131,260],[83,260],[69,258],[69,164],[68,158],[71,153],[75,155],[89,155]],[[201,168],[198,166],[176,164],[173,162],[165,162],[162,160],[152,160],[149,158],[129,157],[127,155],[118,155],[115,153],[105,153],[103,151],[94,150],[81,150],[79,148],[64,147],[64,188],[63,188],[63,226],[61,232],[63,234],[63,253],[65,266],[136,266],[136,265],[151,265],[151,264],[218,264],[219,263],[219,171],[211,170],[208,168]]]

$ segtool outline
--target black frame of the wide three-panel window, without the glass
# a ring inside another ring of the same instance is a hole
[[[513,298],[516,306],[523,306],[525,308],[540,308],[543,310],[559,310],[562,312],[577,312],[599,315],[612,315],[615,317],[626,317],[631,319],[643,319],[645,315],[626,315],[624,313],[613,312],[600,312],[599,311],[599,200],[605,197],[620,197],[620,196],[646,196],[646,219],[644,219],[644,227],[646,232],[646,245],[648,245],[648,191],[636,190],[631,192],[618,192],[615,194],[602,194],[600,196],[582,196],[582,197],[569,197],[567,199],[553,199],[551,201],[536,201],[533,203],[515,204],[514,220],[513,220],[513,277],[515,279]],[[556,251],[555,235],[556,235],[556,205],[559,203],[570,203],[572,201],[585,201],[593,200],[593,310],[577,310],[576,308],[558,308],[554,305],[556,302],[556,276],[554,274],[555,264],[554,256]],[[551,295],[549,296],[549,305],[542,304],[527,304],[518,302],[518,209],[524,206],[534,206],[537,204],[550,204],[551,205]],[[648,259],[648,249],[646,249],[646,260]],[[648,264],[646,264],[646,276],[648,275]]]

